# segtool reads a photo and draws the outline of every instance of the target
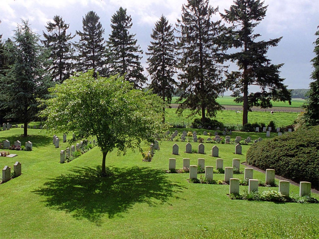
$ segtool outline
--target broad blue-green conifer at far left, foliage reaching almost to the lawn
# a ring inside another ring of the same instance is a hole
[[[2,109],[11,109],[5,118],[24,123],[26,137],[27,125],[39,111],[36,98],[46,98],[52,82],[45,74],[48,52],[39,44],[39,35],[24,20],[14,32],[14,42],[5,44],[4,54],[13,64],[0,78],[0,102]]]

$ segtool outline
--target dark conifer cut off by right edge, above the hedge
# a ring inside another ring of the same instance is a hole
[[[319,26],[317,27],[319,28]],[[318,38],[315,40],[314,53],[315,58],[311,60],[314,71],[311,74],[313,82],[309,84],[309,91],[307,93],[308,99],[304,105],[306,110],[304,117],[308,125],[319,124],[319,30],[315,33]]]

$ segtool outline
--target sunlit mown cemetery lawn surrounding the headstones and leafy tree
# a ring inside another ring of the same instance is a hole
[[[174,129],[172,129],[174,130]],[[182,130],[180,130],[181,132]],[[199,132],[199,131],[198,131]],[[22,163],[22,175],[0,185],[0,238],[316,238],[319,236],[319,205],[273,203],[228,198],[228,185],[189,184],[188,174],[168,174],[172,145],[179,145],[177,168],[182,158],[205,158],[205,165],[215,166],[210,156],[214,144],[205,143],[205,155],[186,154],[186,142],[160,142],[152,162],[142,162],[138,152],[107,156],[110,177],[97,177],[102,154],[95,147],[70,163],[59,163],[61,149],[55,148],[51,136],[29,129],[0,132],[0,141],[33,142],[33,151],[11,151],[17,157],[0,157],[0,166]],[[264,133],[240,133],[252,139]],[[58,135],[62,138],[62,135]],[[271,134],[274,137],[275,134]],[[70,135],[68,135],[70,137]],[[203,136],[207,137],[207,136]],[[192,143],[197,148],[198,143]],[[234,155],[234,145],[218,144],[224,167]],[[146,147],[145,147],[146,149]],[[241,170],[244,166],[241,165]],[[214,174],[222,180],[223,174]],[[243,178],[243,175],[235,175]],[[265,180],[254,171],[254,178]],[[247,186],[241,186],[242,191]],[[272,188],[278,190],[278,188]],[[291,192],[299,188],[290,186]],[[268,188],[259,188],[260,191]],[[319,195],[312,193],[319,199]]]

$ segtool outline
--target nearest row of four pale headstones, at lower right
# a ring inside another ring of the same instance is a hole
[[[230,178],[229,179],[229,194],[239,194],[239,179],[238,178]],[[289,197],[289,186],[290,182],[285,180],[279,181],[278,192],[282,195]],[[258,192],[258,179],[249,179],[248,180],[248,193],[250,192]],[[299,196],[310,196],[311,193],[311,183],[309,182],[300,182],[299,185]]]

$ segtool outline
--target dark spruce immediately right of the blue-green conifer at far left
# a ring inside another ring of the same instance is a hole
[[[45,26],[48,33],[43,32],[45,40],[41,42],[50,50],[51,63],[47,70],[51,73],[55,82],[62,83],[70,77],[72,70],[72,58],[74,50],[71,40],[74,36],[67,34],[69,24],[64,23],[60,16],[54,16],[53,22],[48,22]]]

